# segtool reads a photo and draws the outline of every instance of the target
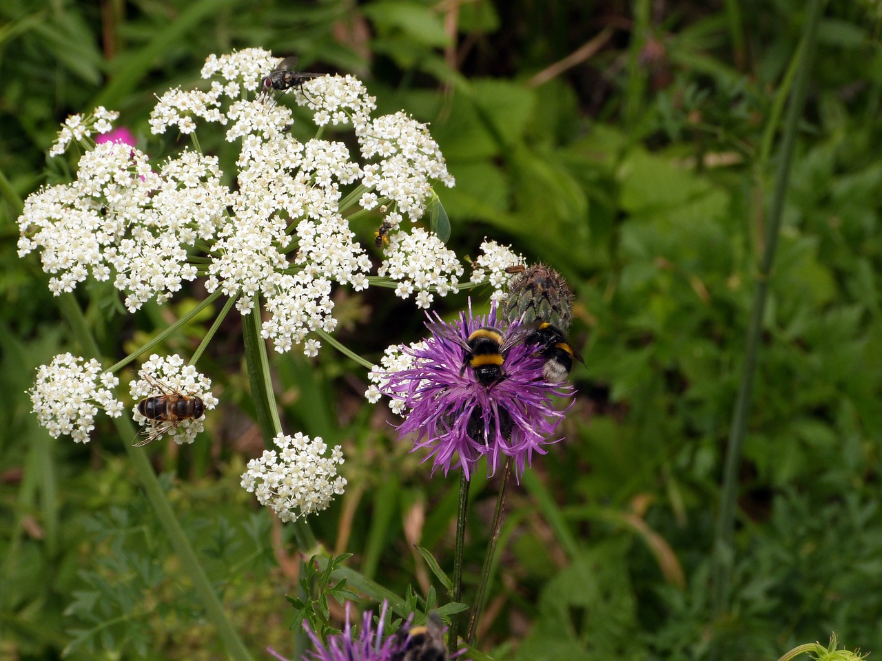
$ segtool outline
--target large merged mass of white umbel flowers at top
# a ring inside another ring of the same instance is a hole
[[[382,210],[394,241],[378,273],[398,282],[400,297],[416,293],[417,305],[428,308],[434,293],[458,286],[462,266],[442,241],[401,227],[404,218],[422,218],[435,197],[432,182],[453,184],[428,128],[404,113],[372,117],[376,100],[352,76],[317,76],[265,93],[261,82],[279,64],[261,48],[210,56],[202,89],[169,90],[153,108],[154,134],[223,131],[239,149],[234,173],[190,150],[154,170],[133,146],[94,147],[87,139],[110,130],[116,114],[99,108],[71,117],[57,148],[73,139],[86,147],[77,180],[27,198],[19,255],[41,251],[56,294],[90,276],[110,280],[131,312],[204,277],[207,291],[235,297],[242,314],[263,301],[264,337],[277,351],[301,345],[307,355],[319,346],[310,333],[336,326],[334,286],[369,284],[371,261],[359,237],[373,238],[374,220],[356,226],[348,216]],[[310,108],[318,133],[354,131],[352,152],[343,140],[297,140],[280,97]],[[221,184],[225,178],[235,184]]]

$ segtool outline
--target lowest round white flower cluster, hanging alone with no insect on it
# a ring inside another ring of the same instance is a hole
[[[283,522],[327,509],[333,496],[343,493],[346,479],[337,474],[343,464],[339,445],[325,457],[327,445],[318,436],[310,440],[300,432],[278,434],[273,443],[278,450],[264,450],[262,457],[248,462],[242,486]]]

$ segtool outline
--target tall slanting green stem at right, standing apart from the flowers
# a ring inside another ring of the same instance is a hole
[[[766,227],[766,245],[759,264],[759,273],[753,293],[753,308],[751,310],[751,320],[747,331],[744,354],[744,372],[738,388],[735,411],[732,415],[732,426],[729,430],[729,444],[723,467],[720,514],[717,518],[714,534],[714,564],[711,575],[714,615],[716,617],[720,617],[729,605],[731,569],[735,556],[733,536],[738,491],[738,467],[741,463],[744,434],[747,430],[747,420],[750,415],[751,395],[754,375],[757,370],[763,313],[766,309],[769,278],[774,264],[779,228],[781,227],[781,212],[784,206],[784,197],[787,193],[793,149],[796,143],[796,130],[808,88],[809,71],[815,52],[815,36],[818,30],[818,19],[822,5],[823,0],[811,0],[809,18],[806,20],[803,33],[804,45],[796,52],[796,56],[799,58],[796,82],[790,96],[784,135],[781,139],[781,160],[770,204],[769,222]]]

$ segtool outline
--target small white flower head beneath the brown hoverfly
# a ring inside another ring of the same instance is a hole
[[[138,404],[147,397],[171,397],[173,400],[198,397],[204,410],[211,411],[218,404],[218,398],[210,390],[211,380],[199,374],[192,365],[185,365],[183,358],[177,354],[165,357],[153,353],[138,370],[138,375],[139,378],[129,384],[131,397],[137,400],[132,415],[136,423],[146,425],[144,432],[147,439],[155,441],[168,434],[178,445],[193,442],[196,434],[205,430],[204,416],[182,420],[149,420],[138,412]]]

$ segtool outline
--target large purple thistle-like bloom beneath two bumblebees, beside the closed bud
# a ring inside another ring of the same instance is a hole
[[[381,388],[409,409],[398,427],[400,435],[417,434],[414,449],[430,450],[426,459],[434,457],[433,472],[443,468],[446,475],[461,466],[470,479],[475,464],[486,456],[493,474],[505,456],[513,457],[519,478],[534,452],[545,454],[545,446],[561,440],[553,436],[569,405],[558,411],[554,398],[572,397],[572,387],[545,381],[542,355],[536,345],[523,342],[519,323],[504,333],[505,338],[520,339],[510,347],[504,340],[503,378],[483,385],[473,369],[463,370],[467,340],[483,326],[496,328],[496,307],[489,315],[474,316],[469,303],[458,322],[436,318],[438,323],[427,324],[431,335],[424,345],[405,350],[414,357],[414,366],[390,374]]]

